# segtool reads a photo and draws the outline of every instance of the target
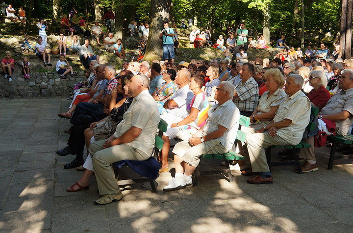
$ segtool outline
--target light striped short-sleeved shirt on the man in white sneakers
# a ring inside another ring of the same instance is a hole
[[[216,104],[208,110],[208,119],[203,127],[206,134],[216,131],[221,125],[226,127],[226,132],[216,140],[219,140],[226,149],[230,150],[234,144],[238,132],[240,113],[232,100],[223,105]]]

